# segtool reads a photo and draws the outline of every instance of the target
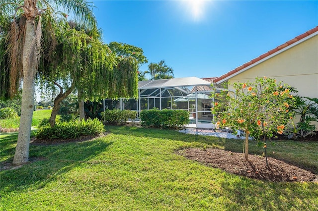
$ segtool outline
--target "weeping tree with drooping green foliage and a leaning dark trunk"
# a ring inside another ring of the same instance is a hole
[[[103,44],[96,30],[89,33],[67,23],[57,37],[53,61],[44,61],[39,72],[43,83],[57,86],[50,125],[55,125],[60,103],[73,91],[81,99],[96,101],[102,98],[136,98],[138,93],[138,61],[133,56],[121,57]],[[59,81],[63,86],[57,83]],[[63,87],[65,92],[63,92]],[[79,104],[79,107],[83,105]],[[83,115],[83,114],[82,114]]]

